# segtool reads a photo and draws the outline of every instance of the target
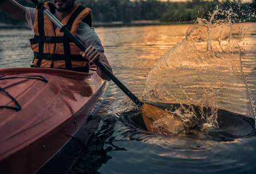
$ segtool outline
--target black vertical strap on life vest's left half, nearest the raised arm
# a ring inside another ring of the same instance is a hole
[[[41,66],[43,52],[44,52],[44,14],[42,10],[38,10],[38,32],[39,36],[42,37],[41,41],[39,42],[39,59],[36,62],[36,67]]]

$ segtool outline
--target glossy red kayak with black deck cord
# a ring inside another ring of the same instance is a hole
[[[1,69],[1,173],[38,171],[84,124],[105,86],[95,71]]]

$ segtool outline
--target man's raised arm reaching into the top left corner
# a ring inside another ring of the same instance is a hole
[[[14,0],[1,0],[0,9],[13,16],[15,19],[26,21],[25,7]]]

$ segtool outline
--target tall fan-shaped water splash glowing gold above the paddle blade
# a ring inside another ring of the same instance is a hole
[[[171,107],[170,112],[188,128],[199,124],[201,130],[217,128],[218,109],[254,118],[238,46],[242,28],[232,24],[236,17],[232,9],[216,7],[209,20],[197,19],[185,39],[148,73],[143,99],[179,104]]]

